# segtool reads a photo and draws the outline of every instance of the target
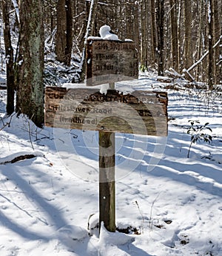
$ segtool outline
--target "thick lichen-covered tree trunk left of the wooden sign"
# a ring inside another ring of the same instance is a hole
[[[20,2],[19,85],[16,111],[33,120],[39,127],[44,123],[44,30],[42,1]]]

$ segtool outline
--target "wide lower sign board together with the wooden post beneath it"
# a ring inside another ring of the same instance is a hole
[[[115,132],[167,135],[167,94],[94,88],[45,90],[45,125],[99,132],[99,223],[115,232]]]

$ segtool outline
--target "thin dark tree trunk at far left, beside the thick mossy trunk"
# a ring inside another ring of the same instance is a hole
[[[10,36],[10,0],[1,1],[2,18],[4,22],[4,48],[7,68],[7,114],[14,111],[14,69],[13,69],[13,47]]]

